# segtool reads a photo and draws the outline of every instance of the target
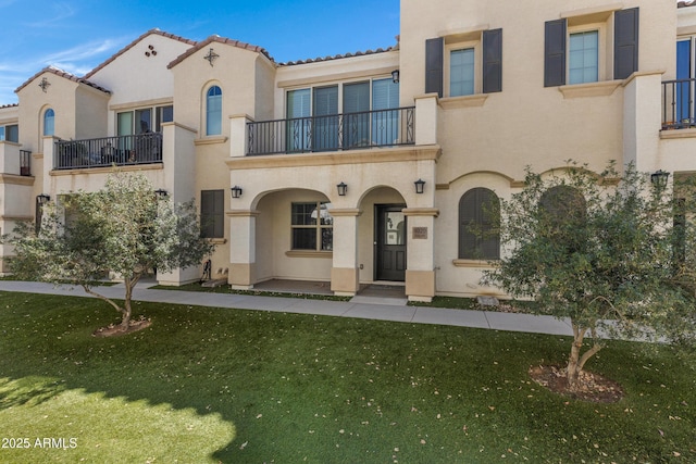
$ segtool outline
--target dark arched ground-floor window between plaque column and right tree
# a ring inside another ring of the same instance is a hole
[[[459,259],[500,259],[500,200],[487,188],[474,188],[459,200]]]

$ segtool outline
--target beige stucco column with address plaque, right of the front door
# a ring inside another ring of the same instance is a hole
[[[431,301],[435,296],[435,208],[407,208],[406,294],[410,301]]]

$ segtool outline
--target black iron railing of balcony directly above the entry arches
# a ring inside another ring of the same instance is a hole
[[[415,143],[415,106],[247,124],[248,155]]]

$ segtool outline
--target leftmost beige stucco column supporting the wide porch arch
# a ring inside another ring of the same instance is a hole
[[[248,290],[256,284],[258,211],[233,210],[229,217],[229,276],[232,288]]]

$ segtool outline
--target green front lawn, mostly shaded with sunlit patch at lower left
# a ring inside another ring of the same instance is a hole
[[[589,367],[627,396],[593,404],[527,375],[568,338],[135,311],[152,326],[100,339],[104,303],[0,293],[0,462],[696,462],[696,375],[666,348],[612,342]]]

